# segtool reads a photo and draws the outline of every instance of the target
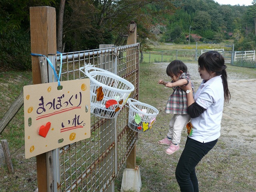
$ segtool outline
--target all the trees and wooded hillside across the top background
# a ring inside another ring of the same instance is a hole
[[[60,0],[1,0],[1,65],[31,68],[31,6],[53,6],[58,19]],[[189,32],[208,43],[230,39],[228,32],[232,32],[238,49],[251,49],[255,47],[255,12],[255,3],[231,6],[212,0],[69,0],[65,2],[62,42],[64,52],[95,49],[99,44],[124,45],[127,26],[134,21],[141,50],[149,50],[148,44],[157,41],[188,44],[185,37]],[[191,36],[190,42],[194,42]]]

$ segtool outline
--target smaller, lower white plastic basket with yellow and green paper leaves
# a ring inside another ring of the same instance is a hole
[[[138,100],[128,98],[129,119],[128,127],[137,132],[147,132],[156,121],[158,110],[153,106]]]

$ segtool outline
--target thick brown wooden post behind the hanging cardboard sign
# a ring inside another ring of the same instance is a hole
[[[53,7],[30,7],[31,52],[34,54],[56,54],[56,11]],[[32,56],[33,84],[42,83],[40,62]],[[50,152],[51,153],[51,152]],[[52,158],[50,153],[36,156],[38,192],[53,191],[50,169]],[[50,166],[49,166],[50,165]]]

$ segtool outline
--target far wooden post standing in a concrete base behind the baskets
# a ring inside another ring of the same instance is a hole
[[[130,33],[128,35],[128,39],[127,39],[127,45],[131,45],[131,44],[135,44],[137,43],[137,28],[136,28],[136,23],[131,23],[130,24]],[[132,71],[132,66],[134,66],[134,62],[132,60],[132,57],[130,56],[130,54],[132,54],[132,50],[133,49],[128,49],[127,50],[127,55],[128,55],[128,63],[127,63],[127,70],[126,70],[126,74],[128,74],[129,72]],[[134,82],[135,78],[134,76],[130,79],[130,82]],[[138,84],[135,83],[134,85],[134,90],[137,89]],[[127,118],[128,119],[128,118]],[[136,131],[133,131],[131,129],[128,129],[128,136],[127,136],[127,142],[129,143],[129,141],[136,137]],[[128,145],[129,146],[129,145]],[[136,166],[136,144],[134,144],[130,154],[128,155],[127,159],[126,159],[126,168],[131,168],[134,169]]]

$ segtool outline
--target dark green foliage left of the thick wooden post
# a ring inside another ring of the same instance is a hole
[[[0,65],[31,69],[30,6],[46,6],[55,0],[0,1]]]

